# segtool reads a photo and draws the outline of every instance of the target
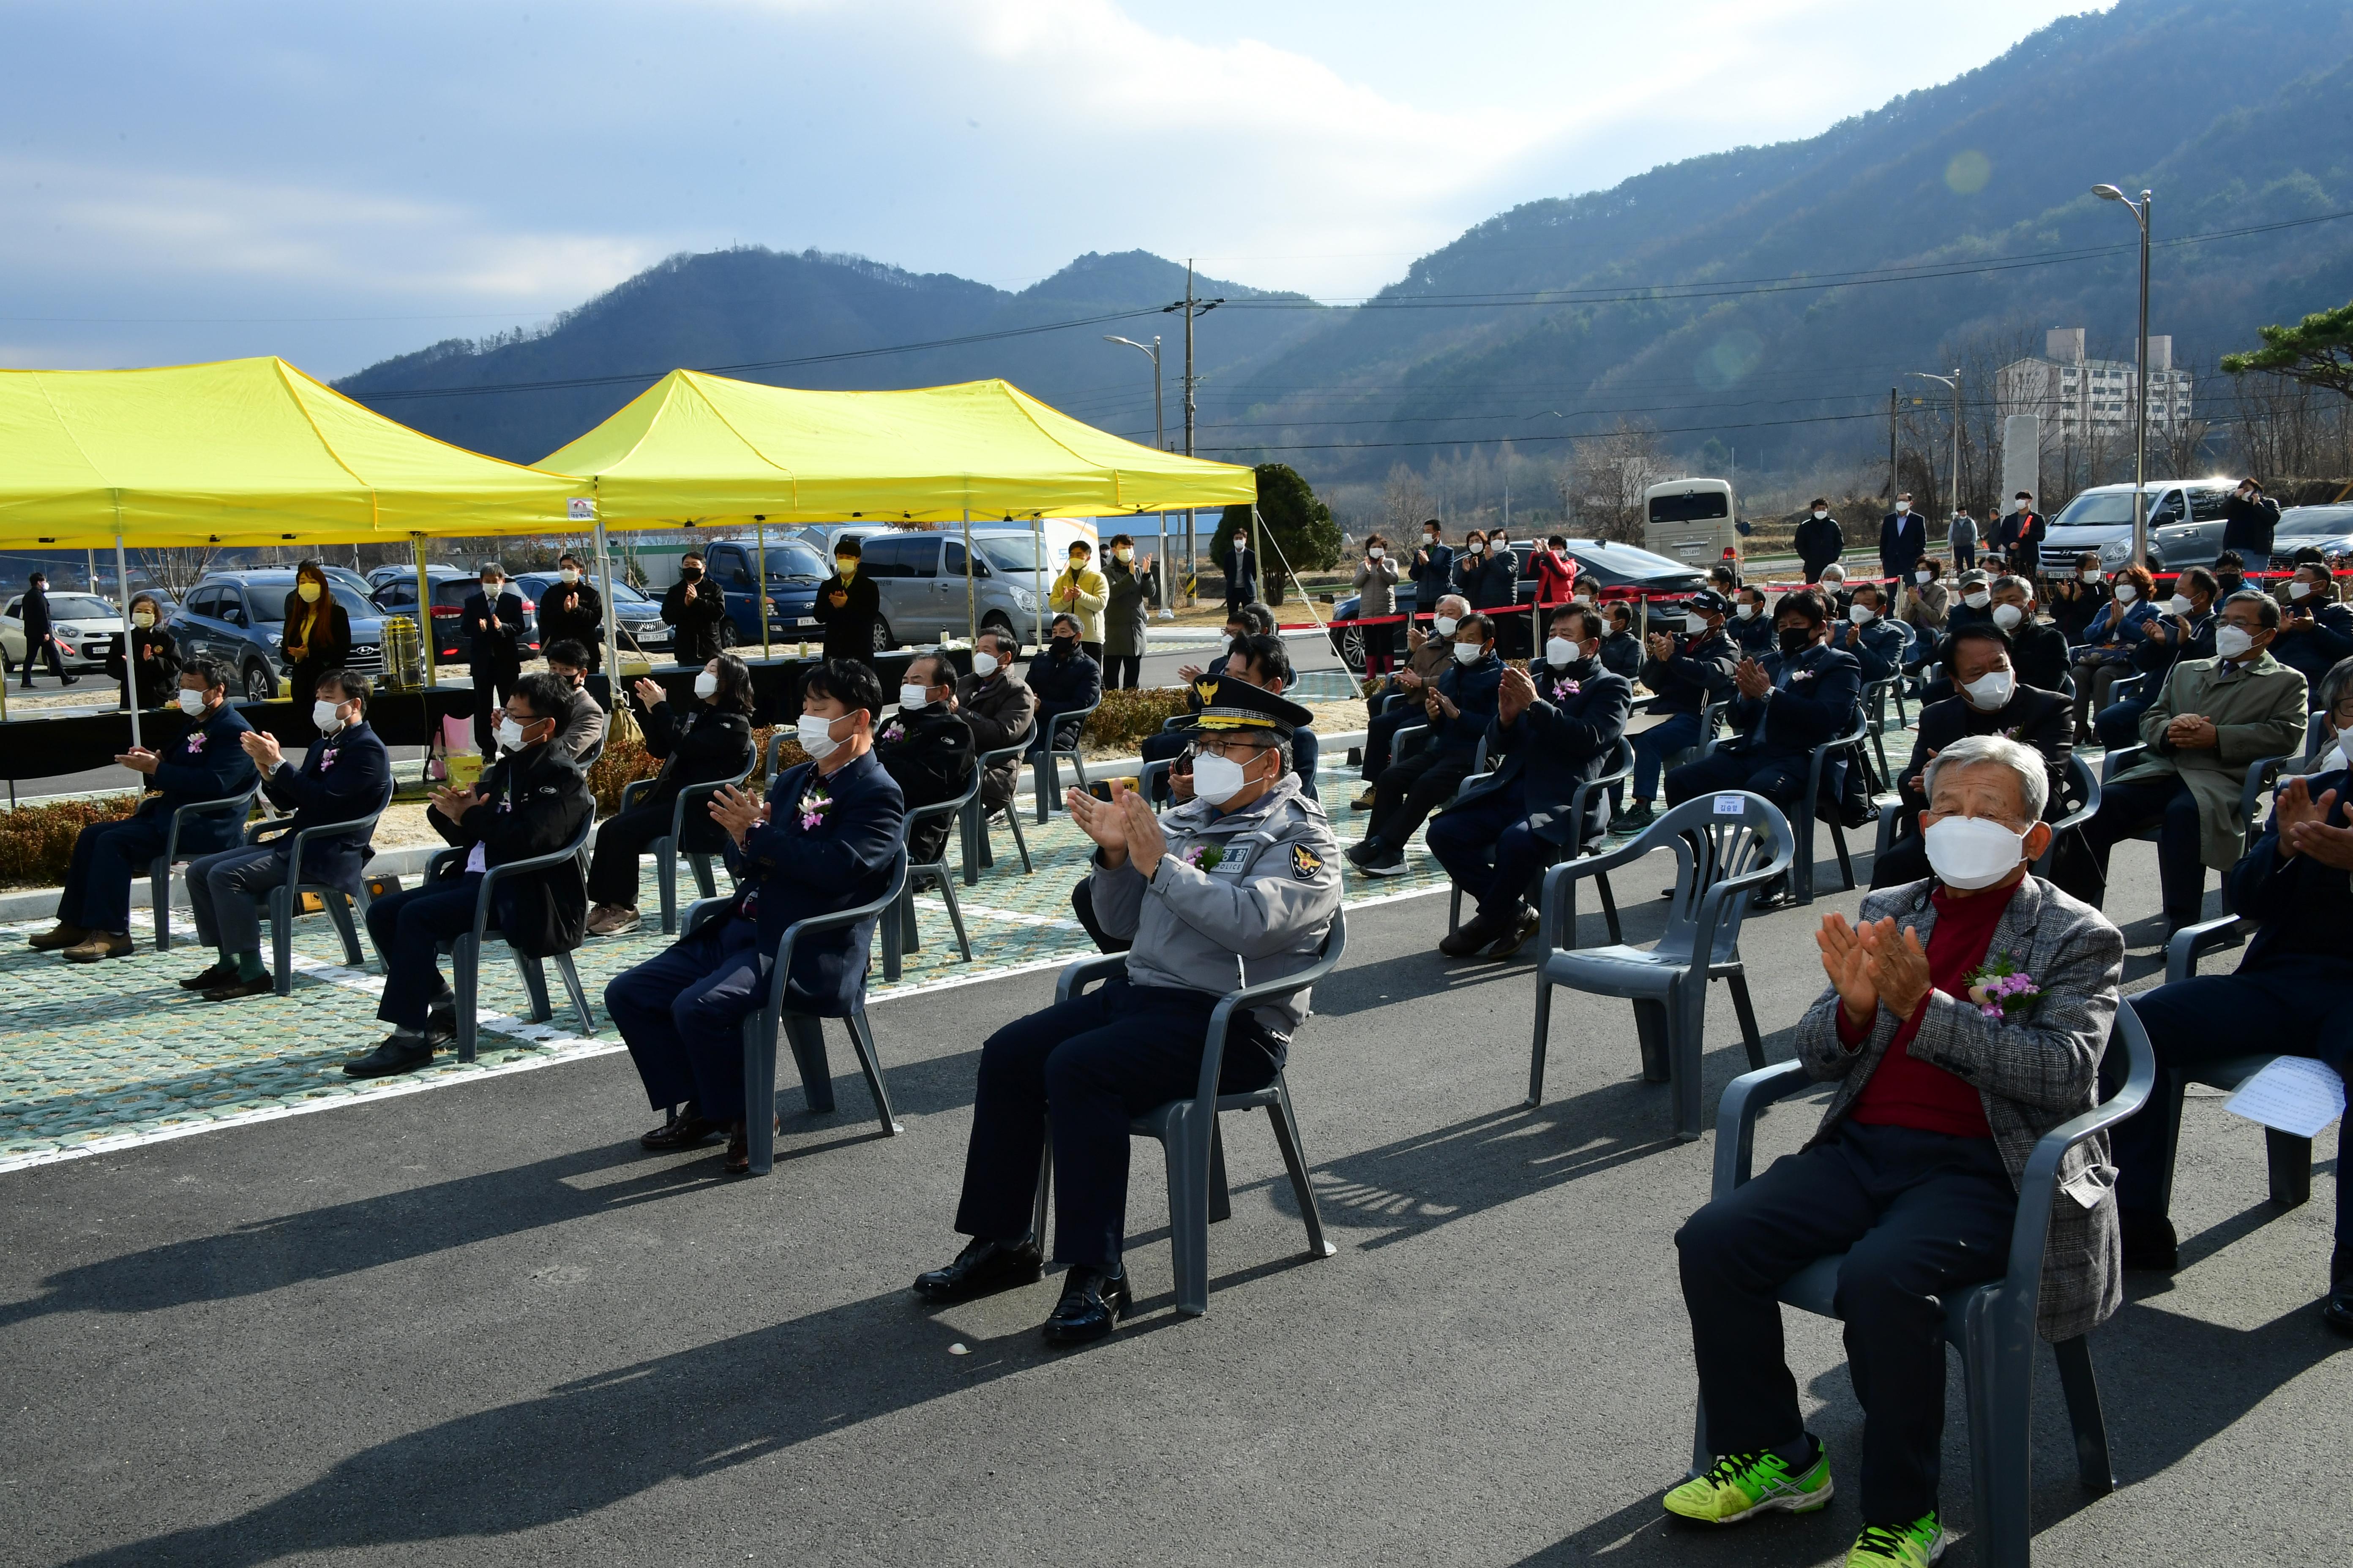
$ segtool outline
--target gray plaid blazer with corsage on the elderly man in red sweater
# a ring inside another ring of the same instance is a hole
[[[1894,917],[1899,929],[1918,931],[1925,947],[1937,926],[1937,905],[1929,903],[1934,891],[1934,879],[1880,889],[1864,898],[1861,919]],[[2033,1016],[2002,1023],[1967,1001],[1929,992],[1927,1018],[1908,1051],[1977,1084],[1993,1143],[2017,1185],[2035,1140],[2092,1110],[2097,1100],[2099,1058],[2115,1023],[2115,983],[2125,971],[2125,933],[2092,905],[2028,875],[2009,896],[1986,945],[1988,961],[2002,954],[2042,987],[2042,1004]],[[1882,1006],[1871,1039],[1849,1053],[1838,1041],[1835,987],[1826,987],[1798,1020],[1798,1058],[1805,1070],[1817,1079],[1840,1079],[1812,1143],[1838,1128],[1901,1025]],[[2097,1192],[2099,1201],[2085,1208],[2071,1197],[2071,1187]],[[2122,1302],[2115,1166],[2108,1164],[2108,1135],[2097,1133],[2059,1161],[2059,1192],[2052,1194],[2049,1239],[2042,1248],[2042,1338],[2071,1340],[2106,1321]]]

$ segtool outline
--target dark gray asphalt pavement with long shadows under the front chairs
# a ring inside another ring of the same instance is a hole
[[[2115,896],[2134,985],[2155,966],[2146,872],[2127,860]],[[1664,875],[1619,877],[1633,940]],[[1294,1051],[1339,1255],[1301,1255],[1273,1140],[1231,1119],[1209,1314],[1179,1319],[1141,1147],[1141,1312],[1078,1354],[1035,1333],[1054,1279],[946,1312],[906,1293],[958,1246],[979,1041],[1042,1006],[1047,973],[875,1011],[901,1138],[875,1135],[835,1032],[840,1110],[788,1088],[765,1180],[640,1154],[624,1056],[0,1178],[0,1561],[1842,1561],[1852,1490],[1725,1535],[1661,1521],[1692,1422],[1671,1234],[1713,1140],[1668,1140],[1617,1001],[1555,1009],[1551,1098],[1522,1110],[1527,966],[1440,959],[1442,919],[1438,898],[1362,910]],[[1774,1058],[1819,985],[1812,924],[1746,931]],[[1741,1053],[1711,1001],[1713,1105]],[[1762,1150],[1812,1121],[1769,1114]],[[2292,1213],[2264,1199],[2261,1150],[2191,1100],[2188,1267],[2134,1276],[2094,1338],[2118,1493],[2075,1488],[2042,1354],[2040,1563],[2353,1544],[2353,1345],[2313,1312],[2337,1140]],[[1788,1354],[1852,1488],[1835,1326],[1793,1316]],[[1948,1408],[1967,1530],[1958,1375]]]

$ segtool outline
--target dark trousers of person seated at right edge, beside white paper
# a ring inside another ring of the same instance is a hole
[[[2115,1204],[2165,1213],[2179,1121],[2167,1110],[2200,1063],[2249,1051],[2313,1056],[2339,1072],[2353,1065],[2353,954],[2285,952],[2235,976],[2177,980],[2132,999],[2158,1053],[2148,1105],[2108,1133]],[[2261,1020],[2254,1025],[2254,1020]],[[2353,1161],[2337,1161],[2337,1244],[2353,1246]]]

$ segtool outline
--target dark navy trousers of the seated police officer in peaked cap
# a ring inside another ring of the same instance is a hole
[[[955,1229],[991,1241],[1028,1234],[1052,1112],[1054,1258],[1115,1265],[1127,1229],[1127,1124],[1193,1093],[1214,1009],[1212,992],[1122,978],[991,1034]],[[1219,1093],[1266,1088],[1282,1048],[1254,1020],[1235,1018]]]

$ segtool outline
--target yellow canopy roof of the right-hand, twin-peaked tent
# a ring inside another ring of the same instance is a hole
[[[678,369],[541,468],[607,527],[1113,517],[1249,503],[1257,475],[1153,451],[1005,381],[807,393]]]

